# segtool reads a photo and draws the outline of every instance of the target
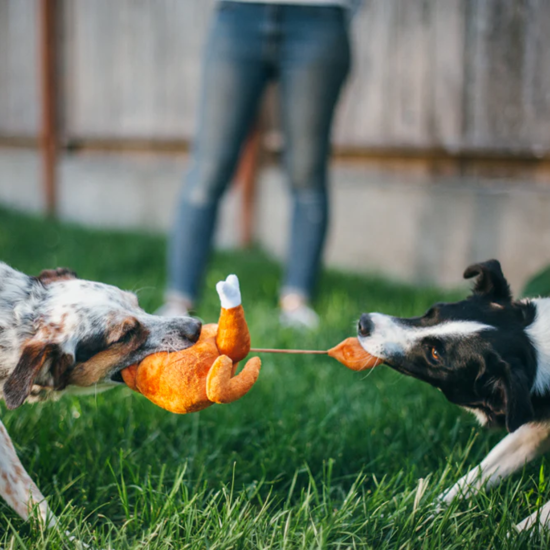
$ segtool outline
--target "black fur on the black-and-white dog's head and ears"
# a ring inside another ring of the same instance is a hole
[[[537,354],[525,331],[535,320],[536,305],[511,299],[496,260],[470,266],[464,276],[477,277],[469,298],[435,304],[421,317],[395,321],[406,328],[474,321],[492,329],[460,337],[427,336],[405,353],[385,357],[384,362],[441,389],[452,403],[480,410],[489,425],[505,426],[511,432],[526,422],[546,419],[550,388],[544,397],[530,393]]]

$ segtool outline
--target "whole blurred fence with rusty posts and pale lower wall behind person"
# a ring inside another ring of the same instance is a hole
[[[0,0],[0,202],[166,231],[211,0]],[[365,0],[333,132],[326,264],[455,287],[550,261],[550,3]],[[289,197],[270,89],[217,244],[280,257]],[[230,106],[228,106],[230,108]]]

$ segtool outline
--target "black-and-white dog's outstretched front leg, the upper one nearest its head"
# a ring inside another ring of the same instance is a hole
[[[449,504],[454,498],[469,498],[481,487],[498,485],[505,477],[550,449],[550,424],[524,424],[509,433],[463,478],[439,496],[439,504]]]

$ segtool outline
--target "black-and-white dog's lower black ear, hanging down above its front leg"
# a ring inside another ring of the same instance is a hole
[[[503,406],[494,403],[494,397],[487,398],[489,408],[497,413],[504,412],[506,429],[516,431],[520,426],[535,418],[531,402],[529,382],[521,368],[504,361],[498,354],[491,354],[477,375],[475,389],[479,395],[500,391]],[[504,410],[503,410],[504,409]]]

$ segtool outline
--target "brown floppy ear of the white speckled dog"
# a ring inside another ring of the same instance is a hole
[[[21,357],[4,383],[4,400],[8,409],[17,409],[29,397],[32,384],[46,361],[50,361],[54,388],[64,386],[64,373],[74,363],[74,357],[63,353],[57,344],[30,342],[23,349]]]

